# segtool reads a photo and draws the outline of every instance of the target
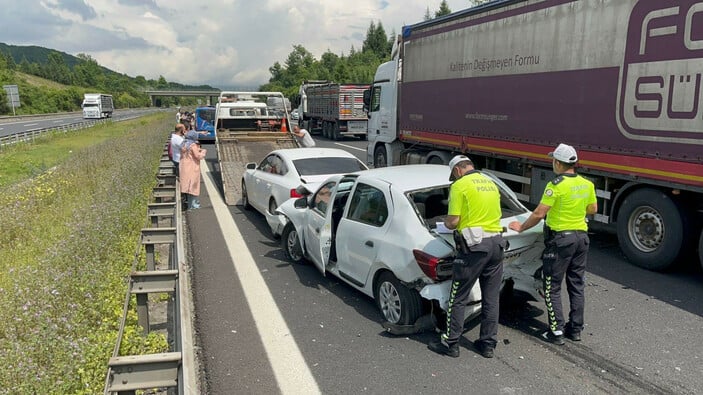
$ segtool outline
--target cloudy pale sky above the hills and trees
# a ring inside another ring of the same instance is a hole
[[[360,50],[369,24],[387,34],[441,0],[0,0],[0,42],[85,53],[131,77],[255,88],[302,45]],[[447,0],[452,11],[470,0]],[[19,59],[15,59],[19,62]]]

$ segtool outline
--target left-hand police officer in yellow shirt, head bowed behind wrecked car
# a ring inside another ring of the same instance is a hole
[[[459,356],[459,339],[464,330],[464,310],[471,288],[481,287],[481,331],[474,342],[485,358],[493,358],[498,343],[500,284],[503,279],[502,216],[500,192],[490,178],[474,169],[469,157],[457,155],[449,162],[449,208],[444,225],[455,229],[457,257],[452,267],[452,284],[447,310],[447,330],[428,348],[450,357]]]

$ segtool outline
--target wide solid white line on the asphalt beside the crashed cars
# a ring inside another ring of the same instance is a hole
[[[206,165],[200,166],[200,169],[249,310],[276,376],[278,388],[283,394],[319,394],[320,388],[261,276],[232,214],[215,187],[210,169]]]

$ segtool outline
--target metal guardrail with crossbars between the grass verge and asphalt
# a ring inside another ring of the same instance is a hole
[[[177,388],[178,394],[196,394],[197,374],[194,356],[192,300],[190,297],[189,269],[185,261],[185,246],[182,226],[181,194],[173,172],[173,164],[167,161],[164,149],[162,162],[154,187],[155,203],[147,208],[151,227],[142,229],[129,287],[125,296],[122,321],[117,343],[108,363],[104,393],[134,394],[137,390],[153,388]],[[170,164],[170,166],[169,166]],[[159,227],[164,219],[168,226]],[[168,269],[157,269],[155,246],[168,245]],[[142,246],[146,252],[146,271],[137,271],[137,261]],[[132,295],[136,295],[137,320],[147,334],[150,330],[148,295],[171,293],[174,302],[172,325],[167,325],[173,339],[173,350],[160,354],[120,356],[120,344],[124,334]]]

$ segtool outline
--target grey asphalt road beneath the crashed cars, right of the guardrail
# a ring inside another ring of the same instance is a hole
[[[363,141],[316,140],[365,160]],[[203,393],[703,393],[695,258],[648,272],[625,261],[614,235],[594,233],[582,342],[545,343],[543,305],[515,300],[501,306],[494,359],[473,350],[478,322],[460,357],[443,357],[427,349],[436,334],[388,335],[371,299],[289,264],[263,216],[223,205],[206,148],[202,208],[185,216]]]

